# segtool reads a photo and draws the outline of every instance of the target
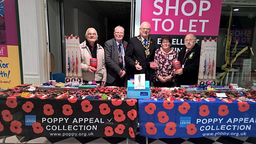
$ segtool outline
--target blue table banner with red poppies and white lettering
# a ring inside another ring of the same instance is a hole
[[[139,100],[140,135],[148,138],[254,137],[256,103]]]

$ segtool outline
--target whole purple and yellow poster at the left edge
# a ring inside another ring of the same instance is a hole
[[[0,91],[21,84],[15,0],[0,1]]]

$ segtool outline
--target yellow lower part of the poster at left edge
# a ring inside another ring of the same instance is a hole
[[[18,46],[7,46],[8,57],[0,57],[0,91],[21,84]]]

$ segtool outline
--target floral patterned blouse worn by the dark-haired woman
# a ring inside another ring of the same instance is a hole
[[[172,62],[178,60],[178,52],[172,50],[171,53],[165,54],[161,51],[162,48],[159,48],[155,52],[154,61],[157,62],[158,66],[154,74],[154,80],[158,80],[158,76],[172,76],[171,81],[175,82],[174,71],[172,67]]]

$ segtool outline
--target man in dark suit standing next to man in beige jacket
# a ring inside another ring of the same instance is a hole
[[[107,86],[124,87],[125,81],[125,62],[124,54],[127,42],[124,38],[124,28],[117,26],[114,29],[114,37],[105,42],[105,64],[107,68]]]

